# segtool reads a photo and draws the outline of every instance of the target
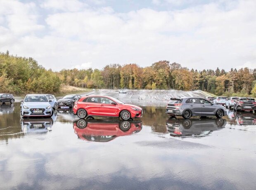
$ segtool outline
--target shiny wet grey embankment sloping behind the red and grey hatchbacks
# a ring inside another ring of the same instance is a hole
[[[95,90],[85,95],[106,95],[115,97],[125,103],[140,106],[166,106],[171,97],[206,97],[208,93],[201,90],[126,90],[126,94],[119,93],[119,90]]]

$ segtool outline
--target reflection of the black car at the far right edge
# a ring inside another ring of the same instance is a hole
[[[249,112],[235,112],[235,120],[238,125],[256,125],[256,115]]]

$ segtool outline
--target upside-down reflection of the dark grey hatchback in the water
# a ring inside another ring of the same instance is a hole
[[[173,137],[204,137],[215,130],[225,127],[223,118],[177,119],[166,120],[167,131]]]

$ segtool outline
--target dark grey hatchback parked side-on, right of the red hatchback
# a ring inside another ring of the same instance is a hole
[[[166,107],[166,114],[182,116],[188,119],[192,116],[216,116],[222,118],[227,114],[225,107],[213,104],[201,97],[171,98]]]

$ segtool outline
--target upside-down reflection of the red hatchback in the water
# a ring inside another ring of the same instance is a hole
[[[140,132],[140,120],[96,120],[80,119],[73,123],[74,132],[85,141],[108,142],[116,137]]]

